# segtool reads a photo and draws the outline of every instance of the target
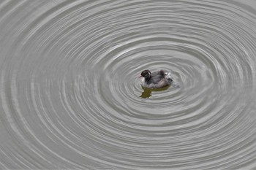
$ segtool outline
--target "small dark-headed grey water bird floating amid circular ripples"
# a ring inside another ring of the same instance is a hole
[[[173,82],[170,72],[159,70],[157,72],[150,72],[148,69],[141,72],[141,85],[143,88],[165,88]]]

